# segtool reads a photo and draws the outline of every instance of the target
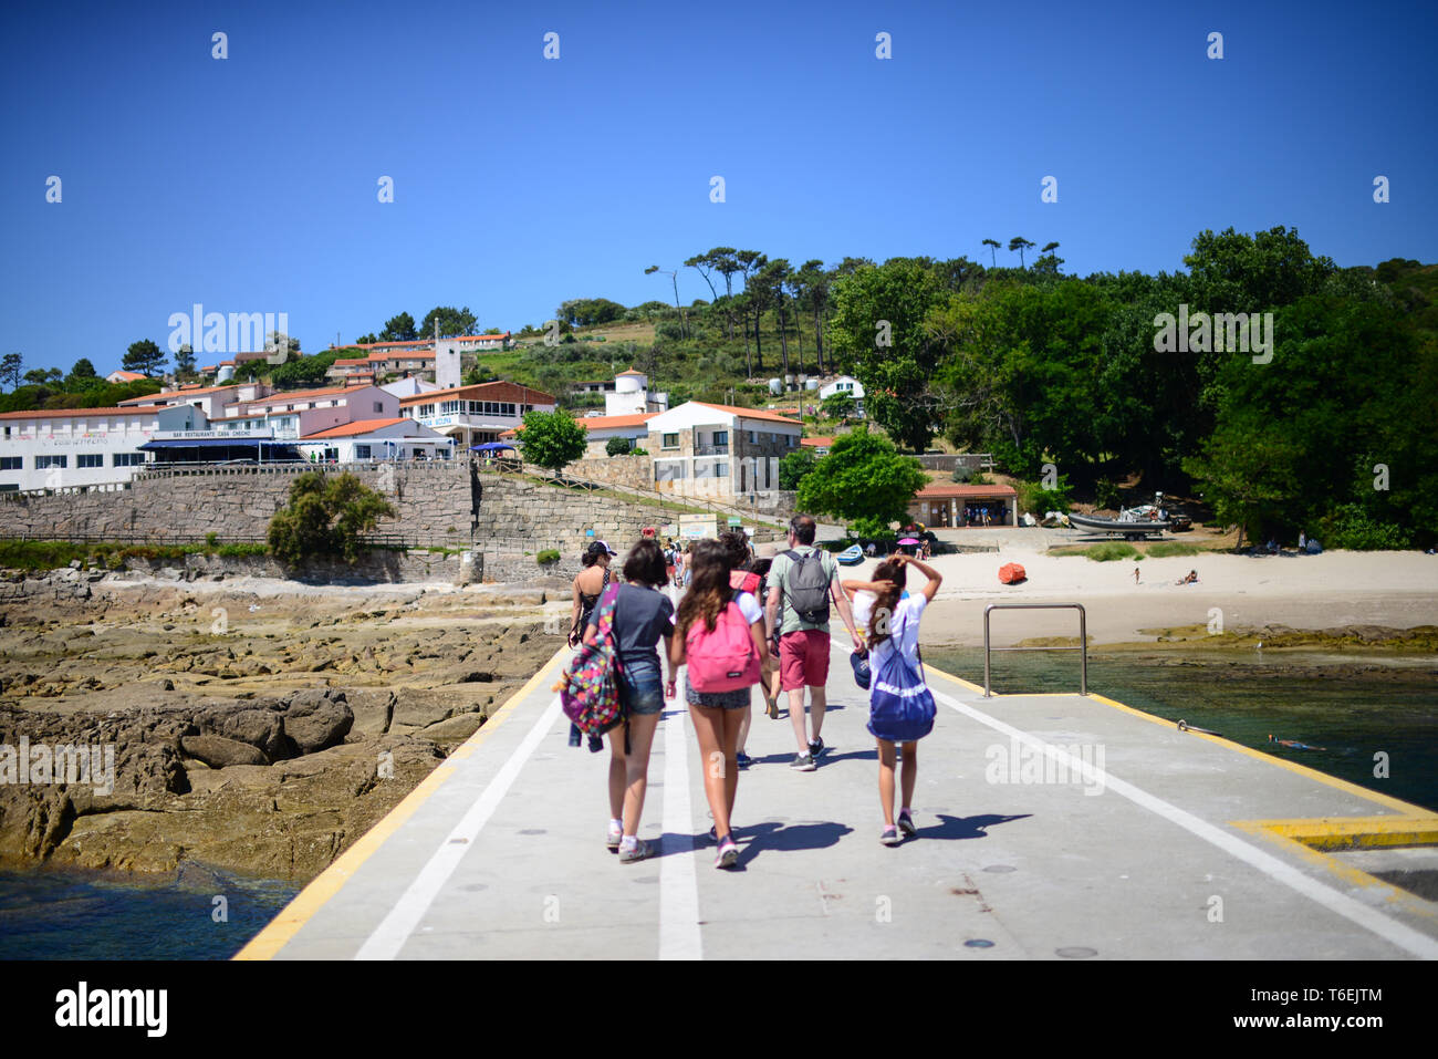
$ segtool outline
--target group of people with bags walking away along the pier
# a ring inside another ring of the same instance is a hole
[[[677,698],[676,676],[684,669],[683,701],[699,741],[705,794],[713,816],[709,839],[716,868],[736,863],[733,804],[751,722],[751,695],[761,688],[766,712],[778,718],[778,696],[788,698],[795,755],[794,771],[814,771],[828,747],[823,727],[830,671],[830,623],[838,613],[857,656],[867,656],[869,731],[879,750],[879,793],[884,826],[880,840],[899,845],[916,827],[910,803],[917,780],[917,740],[932,728],[933,698],[923,686],[919,663],[919,619],[939,588],[939,574],[922,560],[894,555],[879,564],[870,581],[840,581],[834,558],[815,547],[815,522],[794,518],[788,550],[772,560],[756,558],[742,532],[689,547],[687,591],[676,609],[664,588],[674,574],[669,555],[651,538],[640,540],[623,563],[623,584],[613,599],[611,622],[623,722],[608,731],[610,823],[605,845],[624,863],[651,855],[638,837],[650,748],[664,699]],[[594,645],[600,636],[595,601],[610,584],[615,553],[603,541],[585,551],[585,570],[575,578],[569,643]],[[907,570],[926,578],[920,593],[906,590]],[[598,573],[594,573],[598,568]],[[854,600],[850,600],[854,593]],[[664,642],[660,649],[660,640]],[[860,668],[856,666],[856,672]],[[663,673],[661,673],[663,671]],[[810,696],[805,714],[804,696]],[[580,745],[578,730],[571,744]],[[903,751],[902,801],[894,814],[894,767]],[[591,742],[591,748],[595,748]]]

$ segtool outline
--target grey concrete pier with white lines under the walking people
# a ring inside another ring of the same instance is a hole
[[[621,865],[608,753],[567,745],[549,691],[568,656],[240,958],[1438,957],[1438,905],[1311,847],[1432,843],[1434,813],[1097,695],[985,699],[930,669],[919,836],[881,846],[867,698],[837,646],[817,771],[788,768],[787,715],[755,711],[739,866],[712,866],[684,709],[650,764],[640,835],[661,852]]]

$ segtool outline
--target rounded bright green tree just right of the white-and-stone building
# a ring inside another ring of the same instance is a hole
[[[798,506],[843,519],[903,521],[928,481],[919,460],[899,455],[889,439],[860,427],[835,439],[828,455],[800,482]]]

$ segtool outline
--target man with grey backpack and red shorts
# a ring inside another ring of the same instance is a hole
[[[769,599],[766,607],[769,637],[779,642],[779,683],[789,695],[789,721],[798,741],[798,755],[789,768],[812,773],[820,755],[827,750],[820,730],[824,727],[828,681],[828,617],[830,603],[848,629],[854,650],[864,642],[854,627],[848,597],[838,584],[838,564],[834,557],[814,547],[818,527],[808,515],[795,515],[789,522],[789,550],[774,557],[769,567]],[[810,692],[814,738],[804,725],[804,689]]]

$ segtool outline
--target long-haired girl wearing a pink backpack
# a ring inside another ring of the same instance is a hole
[[[696,541],[690,560],[693,584],[679,601],[669,669],[673,673],[687,666],[684,701],[695,722],[705,797],[715,819],[709,832],[719,847],[715,868],[732,868],[739,859],[732,835],[739,728],[749,715],[751,689],[761,679],[768,653],[764,610],[751,593],[731,587],[733,558],[725,541]],[[748,642],[741,645],[745,636]],[[695,688],[696,682],[703,689]],[[709,683],[719,686],[705,686]],[[673,676],[667,692],[674,692]]]

